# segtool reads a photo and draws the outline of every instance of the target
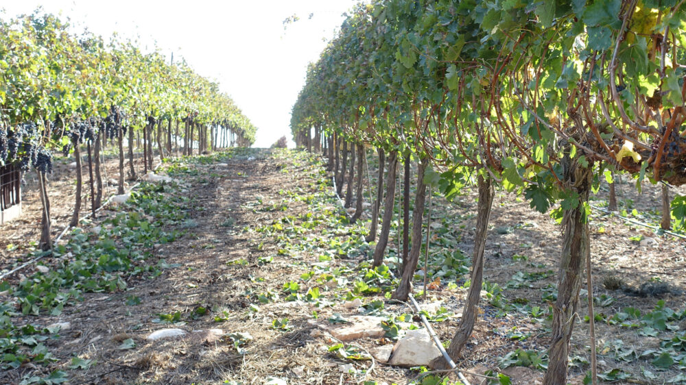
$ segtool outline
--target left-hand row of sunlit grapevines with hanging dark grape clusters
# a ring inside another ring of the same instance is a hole
[[[181,126],[181,127],[180,127]],[[134,42],[74,34],[58,16],[34,14],[0,19],[0,166],[21,164],[39,174],[43,204],[41,247],[51,248],[48,179],[54,151],[74,153],[77,193],[71,225],[78,225],[82,147],[88,151],[93,210],[102,203],[100,153],[117,142],[119,194],[125,149],[128,177],[136,179],[134,132],[143,136],[144,168],[160,158],[229,146],[250,146],[256,127],[219,84],[184,61],[167,62],[159,51],[143,53]],[[128,140],[126,138],[128,136]],[[93,192],[93,166],[97,186]]]

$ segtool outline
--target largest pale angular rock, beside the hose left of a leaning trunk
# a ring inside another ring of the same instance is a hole
[[[409,330],[393,347],[388,363],[398,367],[420,367],[438,356],[440,351],[426,329]]]

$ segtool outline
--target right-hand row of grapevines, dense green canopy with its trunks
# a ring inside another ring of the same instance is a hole
[[[495,185],[523,195],[534,210],[554,208],[563,225],[544,383],[567,382],[570,320],[582,270],[590,267],[590,193],[617,173],[637,184],[686,183],[682,3],[375,0],[349,12],[309,66],[292,112],[296,141],[309,146],[314,127],[315,142],[331,149],[338,186],[348,147],[357,147],[358,159],[364,147],[377,149],[381,159],[388,154],[376,265],[388,238],[399,159],[406,170],[418,162],[412,240],[421,240],[426,184],[448,198],[464,186],[479,190],[471,286],[449,346],[453,360],[476,319]],[[684,226],[685,203],[672,202],[677,227]],[[407,298],[420,249],[421,241],[413,242],[403,255],[397,299]]]

